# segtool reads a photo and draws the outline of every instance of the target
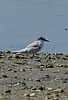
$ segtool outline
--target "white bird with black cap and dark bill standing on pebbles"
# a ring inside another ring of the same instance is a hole
[[[31,44],[27,45],[24,49],[13,51],[12,53],[21,54],[21,53],[37,53],[41,50],[44,45],[44,41],[50,42],[44,37],[39,37],[36,41],[33,41]]]

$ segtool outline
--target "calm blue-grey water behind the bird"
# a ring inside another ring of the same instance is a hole
[[[68,0],[0,0],[0,49],[24,48],[47,32],[44,51],[68,52]]]

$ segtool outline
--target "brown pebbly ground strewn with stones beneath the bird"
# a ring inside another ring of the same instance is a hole
[[[68,54],[0,53],[0,100],[68,100]]]

